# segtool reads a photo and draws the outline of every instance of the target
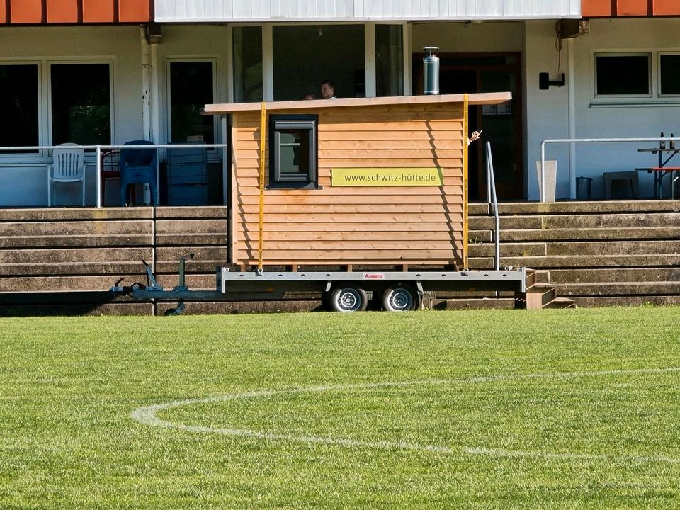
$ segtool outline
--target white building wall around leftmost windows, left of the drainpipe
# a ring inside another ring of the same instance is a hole
[[[137,26],[7,27],[0,30],[0,62],[40,62],[40,144],[50,145],[47,62],[113,60],[113,142],[142,136],[140,29]],[[0,120],[1,121],[1,120]],[[11,162],[27,166],[11,166]],[[0,205],[46,205],[49,154],[8,157],[0,153]],[[96,203],[94,156],[86,173],[86,203]],[[60,188],[61,191],[61,188]],[[79,204],[79,189],[58,194],[59,203]]]

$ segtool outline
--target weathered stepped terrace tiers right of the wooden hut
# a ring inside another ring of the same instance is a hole
[[[502,203],[499,214],[501,266],[536,270],[527,307],[680,305],[679,200]],[[488,205],[470,205],[471,269],[493,267],[493,223]]]

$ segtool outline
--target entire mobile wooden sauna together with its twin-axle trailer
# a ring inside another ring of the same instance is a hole
[[[229,261],[215,291],[137,299],[276,300],[322,293],[331,310],[412,310],[424,292],[526,290],[525,271],[467,269],[468,105],[509,93],[228,103]],[[341,271],[319,271],[340,267]],[[417,270],[414,268],[417,267]],[[281,271],[280,268],[285,268]],[[310,271],[307,271],[310,270]],[[354,271],[353,271],[354,270]],[[118,288],[120,289],[120,288]]]

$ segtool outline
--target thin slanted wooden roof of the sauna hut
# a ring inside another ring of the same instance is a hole
[[[510,92],[487,92],[484,94],[468,94],[471,105],[498,104],[510,101]],[[432,96],[393,96],[380,98],[349,98],[349,99],[312,99],[302,101],[273,101],[266,103],[267,111],[297,110],[310,108],[341,108],[360,106],[390,106],[403,104],[435,104],[435,103],[463,103],[463,94],[438,94]],[[239,111],[256,111],[262,108],[262,103],[218,103],[205,105],[205,115],[224,115]]]

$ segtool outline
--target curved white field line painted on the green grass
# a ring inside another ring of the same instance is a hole
[[[288,388],[285,390],[260,390],[253,392],[234,393],[232,395],[217,395],[216,397],[208,397],[202,399],[185,399],[175,400],[173,402],[166,402],[165,404],[153,404],[147,407],[140,407],[135,409],[130,415],[133,419],[142,424],[149,426],[163,427],[166,429],[178,429],[191,433],[216,433],[225,436],[240,436],[247,438],[259,438],[268,441],[293,441],[298,443],[322,443],[334,446],[349,446],[358,448],[380,448],[384,450],[418,450],[424,452],[443,453],[443,454],[460,454],[467,455],[485,455],[494,458],[543,458],[543,459],[559,459],[559,460],[624,460],[636,463],[671,463],[680,464],[680,458],[672,458],[664,455],[593,455],[589,453],[550,453],[550,452],[531,452],[521,450],[504,450],[502,448],[485,448],[483,446],[470,446],[461,448],[448,448],[447,446],[436,445],[420,445],[407,442],[392,442],[392,441],[355,441],[346,438],[332,438],[325,436],[294,436],[291,434],[278,433],[264,433],[245,429],[215,429],[212,427],[174,424],[171,421],[165,421],[157,416],[157,413],[165,409],[173,409],[175,407],[191,406],[196,404],[208,404],[210,402],[226,402],[228,400],[242,400],[242,399],[256,399],[262,397],[276,397],[279,395],[290,395],[300,393],[314,393],[314,392],[334,392],[344,390],[361,390],[370,388],[385,388],[385,387],[407,387],[417,385],[455,385],[455,384],[474,384],[476,382],[494,382],[507,380],[523,380],[523,379],[566,379],[566,378],[586,378],[586,377],[600,377],[603,375],[635,375],[635,374],[662,374],[662,373],[678,373],[680,367],[672,368],[639,368],[634,370],[601,370],[599,372],[558,372],[558,373],[534,373],[523,375],[482,375],[479,377],[466,379],[433,379],[433,380],[416,380],[416,381],[392,381],[392,382],[369,382],[365,384],[354,385],[322,385],[322,386],[307,386]]]

